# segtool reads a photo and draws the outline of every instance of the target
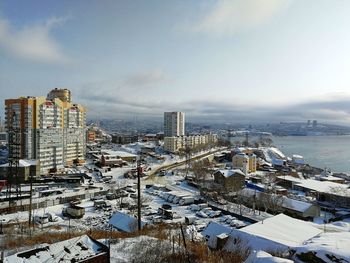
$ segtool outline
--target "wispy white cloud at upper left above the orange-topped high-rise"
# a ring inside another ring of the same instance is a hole
[[[51,36],[52,29],[65,23],[67,19],[52,17],[45,23],[14,30],[7,20],[0,18],[0,47],[6,52],[26,60],[67,63],[70,60],[63,54],[59,44]]]

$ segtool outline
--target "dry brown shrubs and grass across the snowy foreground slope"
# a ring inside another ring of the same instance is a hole
[[[147,235],[155,239],[140,240],[131,251],[131,261],[134,263],[180,263],[180,262],[206,262],[206,263],[226,263],[243,262],[249,254],[249,250],[241,243],[236,244],[233,252],[210,251],[204,242],[186,241],[187,250],[184,247],[182,237],[174,234],[178,230],[176,225],[169,226],[159,224],[147,226],[142,231],[134,233],[122,233],[117,231],[90,230],[84,232],[45,232],[35,233],[32,236],[6,235],[0,250],[19,247],[34,247],[43,243],[56,243],[84,234],[90,235],[94,239],[123,239]],[[180,238],[180,240],[179,240]],[[248,254],[247,254],[248,253]]]

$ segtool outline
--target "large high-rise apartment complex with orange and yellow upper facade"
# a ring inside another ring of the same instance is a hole
[[[42,174],[84,162],[86,110],[71,102],[69,90],[7,99],[5,114],[6,129],[19,142],[17,157],[39,160]]]

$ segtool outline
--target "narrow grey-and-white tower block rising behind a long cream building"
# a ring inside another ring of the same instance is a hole
[[[185,113],[164,112],[164,137],[185,135]]]

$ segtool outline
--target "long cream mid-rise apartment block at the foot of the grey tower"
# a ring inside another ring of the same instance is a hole
[[[180,149],[186,147],[194,148],[199,145],[216,143],[218,136],[216,134],[198,134],[190,136],[164,137],[164,151],[177,153]]]

